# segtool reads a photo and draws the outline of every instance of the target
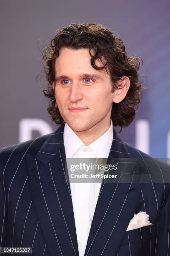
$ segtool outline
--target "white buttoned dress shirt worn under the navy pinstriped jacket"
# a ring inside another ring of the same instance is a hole
[[[67,123],[63,136],[66,158],[108,158],[113,140],[112,120],[110,128],[88,146]],[[70,183],[79,256],[85,253],[100,187],[101,183]]]

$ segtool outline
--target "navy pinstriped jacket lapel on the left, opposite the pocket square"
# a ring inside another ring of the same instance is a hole
[[[65,182],[64,125],[35,157],[27,155],[32,201],[50,255],[78,256],[70,184]]]

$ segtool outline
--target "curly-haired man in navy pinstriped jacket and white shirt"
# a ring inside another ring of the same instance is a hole
[[[151,176],[134,183],[136,171],[121,183],[128,167],[117,182],[65,182],[66,158],[140,159],[147,167],[151,158],[113,129],[135,118],[140,58],[128,57],[122,40],[95,23],[62,28],[43,57],[48,113],[61,126],[1,150],[1,247],[32,247],[35,256],[169,255],[163,163],[155,161],[159,184]]]

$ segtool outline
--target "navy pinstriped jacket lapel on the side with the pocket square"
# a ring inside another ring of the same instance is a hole
[[[120,140],[115,131],[107,164],[113,163],[113,159],[123,159],[123,162],[124,160],[132,161],[125,143]],[[138,184],[133,183],[135,170],[131,172],[133,175],[130,175],[129,182],[122,183],[124,175],[129,170],[128,164],[125,163],[124,167],[120,168],[117,183],[107,183],[108,179],[106,179],[101,185],[85,256],[115,255],[125,235],[130,219],[133,217],[141,187],[141,176],[137,177]]]

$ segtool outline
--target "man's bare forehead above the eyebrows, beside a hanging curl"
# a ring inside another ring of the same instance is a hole
[[[55,60],[55,74],[62,75],[64,73],[87,73],[95,72],[98,74],[105,74],[105,69],[94,69],[90,63],[91,56],[89,49],[70,49],[62,47],[59,56]],[[102,66],[100,60],[96,60],[95,64],[98,67]]]

